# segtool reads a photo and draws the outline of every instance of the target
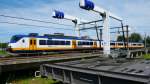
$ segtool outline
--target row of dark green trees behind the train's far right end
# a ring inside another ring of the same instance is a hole
[[[124,38],[122,35],[117,37],[117,41],[123,41]],[[125,38],[125,40],[127,41],[127,37]],[[150,47],[150,36],[146,36],[146,37],[142,37],[139,33],[132,33],[129,37],[128,37],[129,42],[142,42],[145,44],[146,41],[146,46]]]

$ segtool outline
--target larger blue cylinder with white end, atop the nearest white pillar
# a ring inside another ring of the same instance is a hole
[[[89,0],[80,0],[80,7],[86,10],[93,10],[94,3]]]

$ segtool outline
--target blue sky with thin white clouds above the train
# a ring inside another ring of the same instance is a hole
[[[130,33],[137,32],[142,36],[146,33],[150,35],[150,0],[92,0],[97,6],[102,7],[117,16],[123,18],[124,25],[129,25]],[[0,42],[9,42],[12,35],[39,33],[52,34],[64,33],[65,35],[76,35],[74,24],[68,20],[59,20],[52,18],[53,10],[64,11],[66,14],[94,21],[101,19],[100,15],[83,10],[79,7],[79,0],[0,0],[0,15],[8,15],[22,18],[31,18],[42,21],[56,22],[71,26],[63,26],[51,23],[41,23],[26,21],[15,18],[0,16]],[[11,22],[19,24],[30,24],[43,27],[22,26],[16,24],[6,24],[1,22]],[[98,23],[102,25],[102,23]],[[110,27],[120,26],[120,23],[110,20]],[[64,30],[64,28],[68,30]],[[72,30],[70,30],[72,29]],[[118,31],[118,30],[111,30]],[[95,31],[82,31],[81,35],[89,35],[95,38]],[[118,34],[111,34],[114,39]]]

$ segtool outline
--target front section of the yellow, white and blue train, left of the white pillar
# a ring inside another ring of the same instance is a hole
[[[49,52],[97,48],[97,41],[64,36],[14,35],[9,42],[11,52]]]

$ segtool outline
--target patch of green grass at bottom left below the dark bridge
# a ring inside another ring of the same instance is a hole
[[[26,79],[16,79],[13,81],[9,81],[11,84],[57,84],[57,81],[53,81],[48,78],[26,78]]]

